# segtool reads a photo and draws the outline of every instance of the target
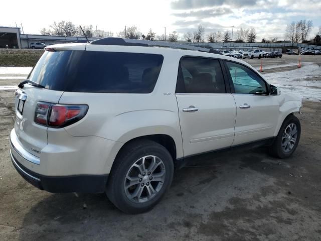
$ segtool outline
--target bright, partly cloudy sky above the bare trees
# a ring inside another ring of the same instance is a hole
[[[277,37],[284,40],[286,25],[301,19],[311,20],[314,37],[321,26],[320,0],[116,0],[34,2],[3,1],[0,6],[0,26],[23,26],[25,34],[39,34],[42,28],[59,21],[75,25],[93,25],[112,31],[114,37],[124,26],[137,26],[146,35],[152,29],[156,35],[172,31],[180,39],[193,32],[199,24],[205,32],[255,28],[257,41]],[[233,38],[234,39],[234,38]]]

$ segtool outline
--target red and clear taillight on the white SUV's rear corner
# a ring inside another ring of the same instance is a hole
[[[62,128],[82,119],[88,111],[86,104],[50,104],[38,102],[35,112],[35,123]]]

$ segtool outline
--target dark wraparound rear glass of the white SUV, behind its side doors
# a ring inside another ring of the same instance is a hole
[[[68,92],[150,93],[163,59],[156,54],[46,51],[28,79]]]

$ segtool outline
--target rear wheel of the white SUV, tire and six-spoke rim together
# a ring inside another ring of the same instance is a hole
[[[123,212],[146,212],[162,199],[173,175],[174,162],[164,146],[149,140],[133,141],[117,155],[106,194]]]

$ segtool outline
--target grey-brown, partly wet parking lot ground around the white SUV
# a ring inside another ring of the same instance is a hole
[[[151,211],[127,215],[105,194],[48,193],[13,167],[14,89],[30,68],[0,67],[0,240],[321,240],[321,56],[248,59],[302,96],[299,146],[285,160],[266,148],[201,159],[175,173]]]

